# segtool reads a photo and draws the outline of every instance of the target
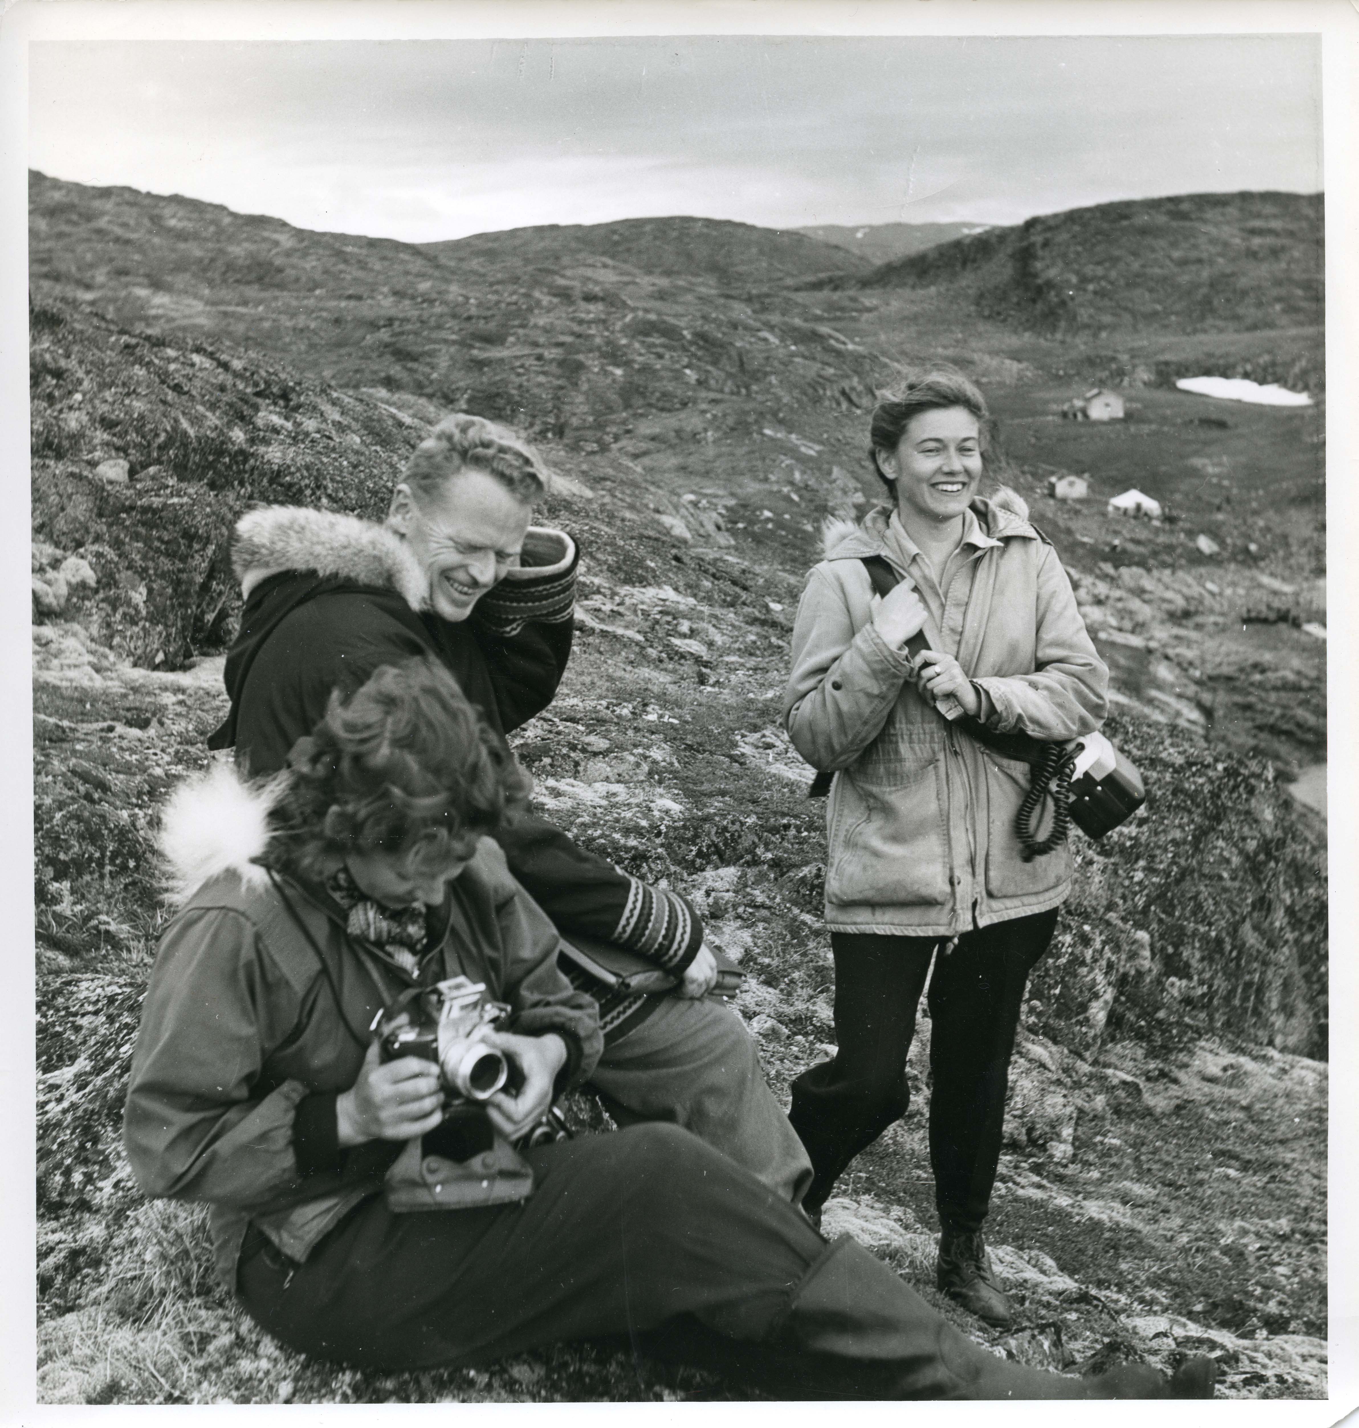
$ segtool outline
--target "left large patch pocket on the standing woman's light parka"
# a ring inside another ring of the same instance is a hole
[[[932,740],[882,743],[841,773],[827,902],[942,904],[948,868],[941,750]]]

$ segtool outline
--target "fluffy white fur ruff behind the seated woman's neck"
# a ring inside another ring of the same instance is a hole
[[[268,875],[254,860],[268,845],[268,815],[284,784],[286,775],[243,783],[228,763],[181,784],[166,804],[157,840],[167,901],[186,902],[223,873],[247,887],[264,885]]]

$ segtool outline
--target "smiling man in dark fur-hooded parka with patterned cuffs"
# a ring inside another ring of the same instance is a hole
[[[545,481],[537,454],[481,417],[451,416],[413,454],[385,526],[295,507],[250,511],[233,561],[246,595],[227,657],[231,711],[208,740],[251,777],[283,768],[324,715],[384,664],[434,655],[498,734],[545,708],[571,653],[577,550],[531,527]],[[521,813],[495,834],[511,874],[561,934],[615,942],[681,978],[678,997],[600,1001],[604,1055],[591,1078],[620,1124],[674,1121],[797,1204],[811,1178],[801,1140],[729,1008],[689,904]]]

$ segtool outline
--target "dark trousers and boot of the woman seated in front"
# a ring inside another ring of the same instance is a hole
[[[270,1334],[361,1368],[418,1369],[628,1335],[785,1395],[1078,1398],[988,1354],[848,1237],[672,1125],[527,1152],[518,1205],[360,1204],[303,1264],[251,1230],[237,1294]]]

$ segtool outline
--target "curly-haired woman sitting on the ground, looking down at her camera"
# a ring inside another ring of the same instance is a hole
[[[183,902],[151,972],[126,1144],[150,1194],[211,1205],[217,1268],[253,1318],[363,1368],[627,1334],[785,1394],[1211,1397],[1206,1359],[1168,1382],[988,1354],[675,1125],[530,1144],[517,1204],[394,1212],[384,1178],[443,1114],[430,1062],[370,1044],[404,991],[465,975],[508,1002],[488,1042],[522,1085],[487,1102],[508,1138],[600,1055],[595,1004],[483,837],[521,793],[451,675],[417,660],[334,697],[281,778],[218,771],[171,804]]]

